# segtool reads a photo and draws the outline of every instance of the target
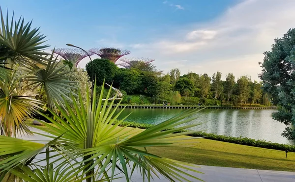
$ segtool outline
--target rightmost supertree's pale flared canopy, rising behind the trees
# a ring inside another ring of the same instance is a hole
[[[151,58],[122,58],[120,61],[124,63],[120,63],[118,65],[124,67],[124,68],[138,68],[138,67],[150,67],[151,62],[155,61]]]

